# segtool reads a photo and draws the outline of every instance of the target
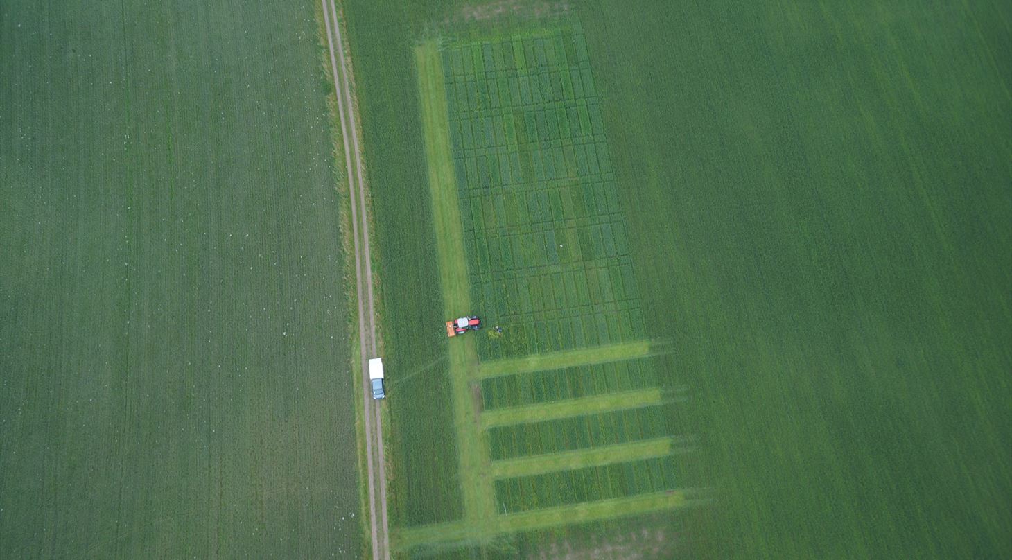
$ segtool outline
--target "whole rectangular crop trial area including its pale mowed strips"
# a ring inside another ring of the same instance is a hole
[[[449,345],[462,518],[404,528],[409,554],[692,502],[586,47],[559,24],[416,49],[445,313],[478,306],[503,331]]]

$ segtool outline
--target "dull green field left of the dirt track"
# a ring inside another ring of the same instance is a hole
[[[314,6],[0,8],[0,557],[359,554]]]

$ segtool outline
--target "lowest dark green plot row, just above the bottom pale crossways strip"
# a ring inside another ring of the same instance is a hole
[[[674,457],[654,457],[496,481],[505,511],[526,511],[581,501],[620,498],[677,487]]]

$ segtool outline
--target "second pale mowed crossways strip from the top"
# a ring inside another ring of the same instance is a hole
[[[500,408],[498,410],[483,412],[480,418],[482,427],[489,428],[504,424],[554,420],[594,412],[607,412],[623,408],[660,404],[663,395],[660,389],[642,389],[640,391],[595,395],[582,399],[568,399],[544,404]]]

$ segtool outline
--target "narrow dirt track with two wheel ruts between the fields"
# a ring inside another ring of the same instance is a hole
[[[361,354],[362,385],[363,385],[363,424],[365,429],[366,471],[368,477],[369,500],[369,533],[371,535],[372,558],[390,559],[389,524],[387,521],[387,476],[383,446],[383,418],[380,405],[371,399],[368,381],[368,358],[376,355],[375,305],[372,292],[372,264],[369,249],[368,219],[366,212],[365,185],[362,180],[362,161],[359,155],[358,134],[355,127],[354,103],[351,99],[351,87],[348,69],[345,63],[341,26],[337,18],[337,7],[334,0],[321,0],[324,12],[324,26],[327,28],[327,43],[330,50],[331,71],[334,76],[334,89],[337,94],[337,108],[341,122],[341,137],[344,144],[344,160],[348,176],[348,191],[351,196],[351,232],[354,238],[355,252],[355,292],[358,301],[358,344]],[[336,51],[340,56],[335,54]],[[340,61],[340,64],[338,64]],[[340,74],[338,74],[340,67]],[[347,112],[345,112],[347,111]],[[347,114],[347,117],[345,117]],[[348,134],[348,131],[351,134]],[[350,142],[349,142],[350,141]],[[352,174],[351,160],[354,154],[355,174]],[[357,186],[356,186],[357,179]],[[358,242],[358,230],[361,225],[362,243]],[[364,274],[362,261],[365,262]],[[368,309],[368,315],[365,309]],[[369,329],[366,336],[365,320],[368,317]],[[375,444],[373,446],[373,443]],[[378,476],[376,474],[378,469]],[[378,492],[376,483],[378,482]],[[378,493],[381,516],[376,516],[376,501]]]

